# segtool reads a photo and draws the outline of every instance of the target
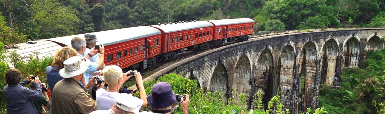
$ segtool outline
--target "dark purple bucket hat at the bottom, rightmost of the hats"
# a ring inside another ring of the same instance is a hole
[[[176,102],[176,94],[172,92],[169,83],[158,82],[152,86],[151,95],[147,96],[147,102],[154,109],[162,109]]]

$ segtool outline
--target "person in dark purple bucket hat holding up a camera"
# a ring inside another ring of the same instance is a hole
[[[147,96],[147,101],[151,106],[151,112],[143,111],[141,114],[172,114],[172,111],[178,107],[177,102],[181,102],[183,114],[189,114],[190,96],[187,94],[177,96],[167,82],[154,84],[151,95]]]

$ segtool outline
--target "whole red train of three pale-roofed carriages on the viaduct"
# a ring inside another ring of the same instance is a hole
[[[105,45],[104,63],[121,68],[146,69],[156,62],[173,59],[188,49],[207,49],[226,42],[248,40],[253,34],[254,21],[235,18],[208,21],[186,21],[151,26],[121,28],[94,32],[98,42]],[[70,45],[73,37],[47,39],[59,45]]]

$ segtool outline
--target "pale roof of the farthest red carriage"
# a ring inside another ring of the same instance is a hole
[[[221,25],[232,25],[232,24],[239,24],[239,23],[253,23],[254,20],[251,18],[233,18],[233,19],[221,19],[221,20],[208,20],[208,22],[212,22],[216,26],[221,26]]]

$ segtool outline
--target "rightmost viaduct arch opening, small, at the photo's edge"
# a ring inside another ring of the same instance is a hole
[[[384,42],[381,40],[382,37],[378,36],[377,33],[370,35],[365,45],[365,52],[374,52],[384,48]]]

